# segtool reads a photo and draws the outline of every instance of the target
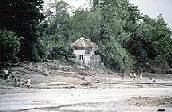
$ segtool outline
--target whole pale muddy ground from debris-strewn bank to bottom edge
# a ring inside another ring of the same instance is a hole
[[[134,80],[126,73],[122,79],[104,67],[82,68],[59,61],[22,63],[10,71],[21,82],[31,78],[32,87],[0,80],[2,112],[157,112],[159,108],[172,112],[170,74],[144,73]]]

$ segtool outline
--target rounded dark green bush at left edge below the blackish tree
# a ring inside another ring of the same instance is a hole
[[[0,30],[0,62],[16,62],[20,48],[19,37],[11,31]]]

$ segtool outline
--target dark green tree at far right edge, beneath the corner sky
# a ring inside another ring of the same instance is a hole
[[[145,39],[150,41],[155,50],[155,62],[159,62],[161,65],[170,65],[172,62],[172,32],[162,15],[159,15],[156,19],[145,16],[143,27],[146,27],[147,31],[143,30],[142,34],[145,36]]]

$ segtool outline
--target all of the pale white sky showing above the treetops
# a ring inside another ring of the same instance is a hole
[[[45,3],[50,0],[44,0]],[[88,7],[89,0],[64,0],[70,4],[73,9],[79,7]],[[143,14],[147,14],[152,18],[162,14],[168,25],[172,29],[172,0],[129,0],[132,4],[138,6]]]

